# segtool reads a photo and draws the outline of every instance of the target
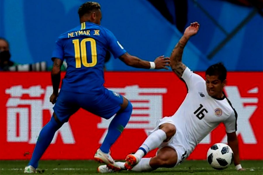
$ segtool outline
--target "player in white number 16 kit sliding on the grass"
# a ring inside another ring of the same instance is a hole
[[[173,116],[162,118],[156,124],[156,128],[149,133],[135,154],[127,155],[125,163],[117,162],[122,169],[152,171],[159,167],[171,168],[181,164],[195,146],[223,122],[236,169],[245,170],[240,165],[238,153],[237,113],[223,92],[226,68],[221,63],[210,66],[205,72],[204,80],[182,63],[184,47],[198,30],[199,24],[191,23],[170,56],[172,71],[187,85],[186,98]],[[159,150],[155,157],[142,158],[157,147]],[[98,167],[98,171],[103,173],[112,170],[102,165]]]

